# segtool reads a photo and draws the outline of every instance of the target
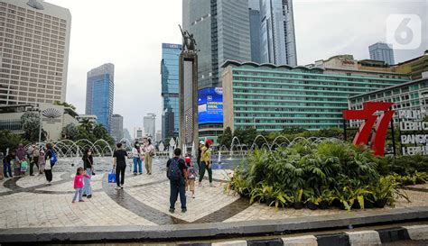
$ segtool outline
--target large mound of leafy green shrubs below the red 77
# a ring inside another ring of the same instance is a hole
[[[367,147],[346,142],[301,142],[273,151],[256,150],[235,170],[228,187],[249,197],[250,203],[276,207],[336,201],[349,210],[364,208],[365,201],[376,203],[379,199],[394,205],[402,196],[396,188],[400,183],[395,177],[379,175],[379,170],[390,172],[389,160],[375,157]],[[424,167],[412,162],[405,169],[416,169],[417,165]],[[386,186],[387,180],[394,184]],[[418,174],[412,180],[426,180],[426,176]]]

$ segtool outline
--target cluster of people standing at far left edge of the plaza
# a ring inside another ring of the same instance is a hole
[[[52,166],[57,162],[55,151],[51,143],[45,147],[37,146],[35,143],[28,148],[24,148],[20,143],[16,149],[7,150],[3,159],[3,172],[5,178],[18,178],[27,174],[34,176],[34,166],[38,169],[38,174],[44,174],[46,182],[51,184]]]

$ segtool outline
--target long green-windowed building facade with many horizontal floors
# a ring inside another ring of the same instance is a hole
[[[224,128],[258,131],[340,127],[348,97],[405,83],[406,76],[331,73],[323,68],[227,61],[223,73]]]

